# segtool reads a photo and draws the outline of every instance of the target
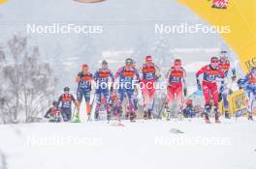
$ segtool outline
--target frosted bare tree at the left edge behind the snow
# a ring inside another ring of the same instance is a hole
[[[33,122],[42,117],[53,99],[53,70],[40,60],[37,46],[28,49],[26,37],[14,36],[8,44],[6,50],[11,54],[0,52],[5,56],[0,63],[0,123]]]

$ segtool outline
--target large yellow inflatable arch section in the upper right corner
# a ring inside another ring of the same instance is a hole
[[[208,0],[178,0],[212,26],[230,26],[222,39],[233,48],[246,73],[256,66],[256,0],[230,0],[227,9],[211,8]]]

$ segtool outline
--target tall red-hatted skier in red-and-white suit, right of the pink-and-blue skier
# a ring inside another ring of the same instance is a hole
[[[141,89],[144,97],[144,119],[151,119],[155,82],[160,77],[158,67],[153,63],[152,56],[146,56],[142,72]]]

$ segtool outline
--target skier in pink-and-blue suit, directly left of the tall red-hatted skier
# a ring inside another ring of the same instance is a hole
[[[125,60],[125,66],[121,67],[114,74],[114,79],[119,79],[118,81],[118,98],[120,99],[119,108],[126,97],[128,99],[128,113],[131,122],[135,121],[135,106],[134,106],[134,86],[136,81],[140,81],[140,75],[138,70],[133,68],[133,60],[128,58]]]

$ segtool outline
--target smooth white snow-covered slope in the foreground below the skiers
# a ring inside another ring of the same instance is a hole
[[[256,168],[256,123],[245,118],[113,123],[0,126],[0,168]]]

